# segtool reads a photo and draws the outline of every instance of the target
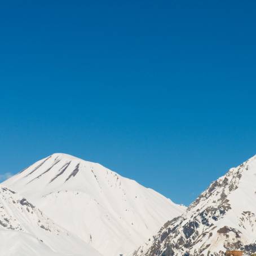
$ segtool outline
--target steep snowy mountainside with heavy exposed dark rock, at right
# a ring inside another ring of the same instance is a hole
[[[256,252],[256,156],[204,191],[133,255],[224,255]]]

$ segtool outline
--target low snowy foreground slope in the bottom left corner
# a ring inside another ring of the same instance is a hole
[[[0,255],[100,256],[6,187],[0,187],[0,241]]]

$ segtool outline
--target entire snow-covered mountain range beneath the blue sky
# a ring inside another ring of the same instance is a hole
[[[56,153],[0,185],[0,255],[217,256],[256,251],[256,156],[188,208]]]

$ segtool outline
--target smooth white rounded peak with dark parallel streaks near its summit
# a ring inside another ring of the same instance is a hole
[[[106,256],[135,250],[186,209],[99,164],[65,154],[46,157],[3,184]]]

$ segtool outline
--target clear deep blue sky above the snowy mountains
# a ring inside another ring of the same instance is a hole
[[[54,152],[189,204],[256,154],[255,1],[7,1],[0,178]]]

